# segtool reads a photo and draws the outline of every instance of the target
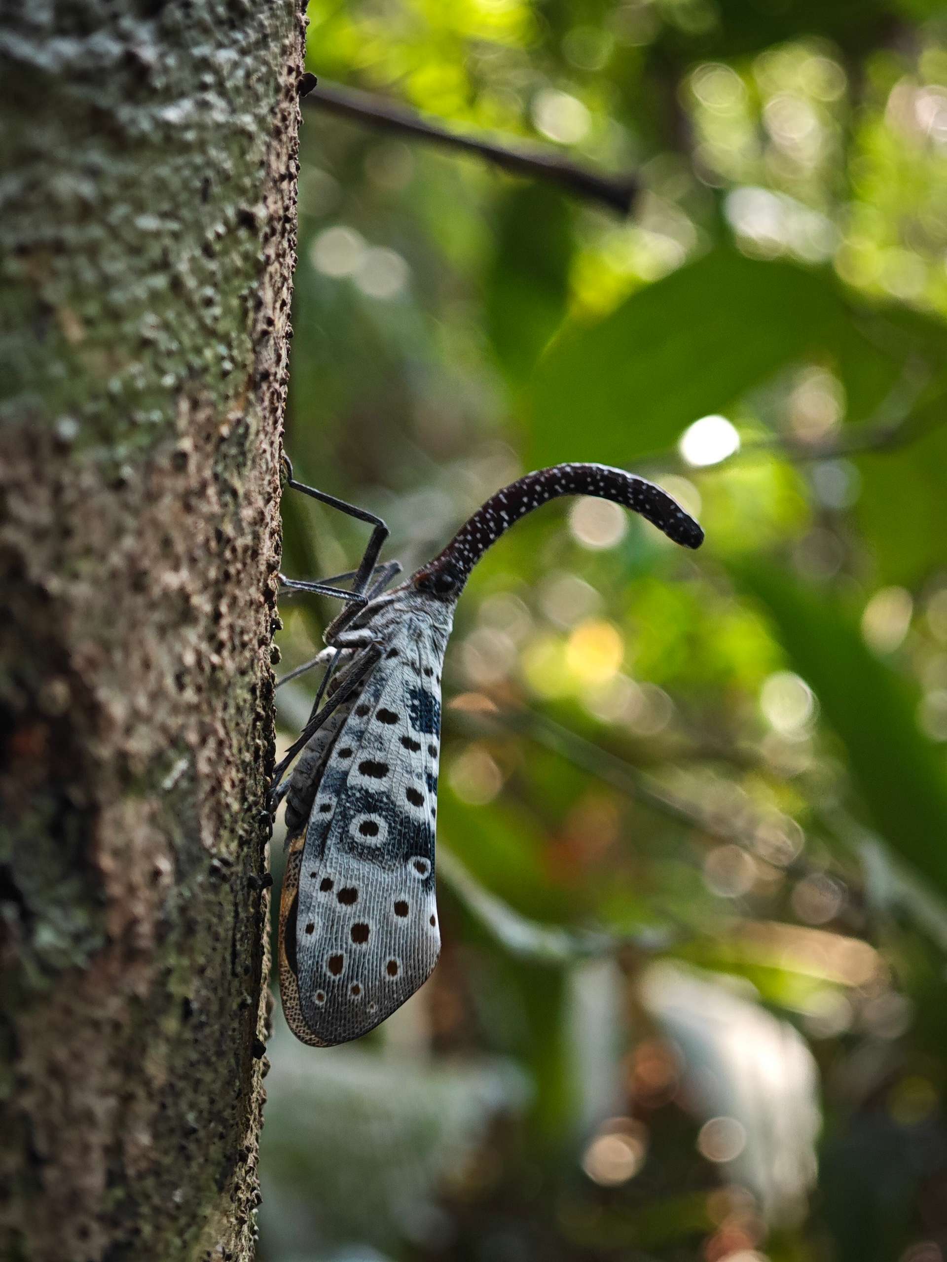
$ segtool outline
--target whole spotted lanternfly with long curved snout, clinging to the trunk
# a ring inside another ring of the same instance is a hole
[[[374,525],[356,572],[321,583],[284,579],[284,591],[346,601],[326,631],[327,647],[307,664],[326,671],[309,723],[277,769],[273,795],[274,810],[287,803],[283,1010],[303,1042],[325,1047],[372,1030],[437,963],[441,666],[477,560],[514,521],[563,495],[621,504],[686,548],[700,548],[703,531],[644,478],[604,464],[557,464],[497,491],[442,553],[385,591],[400,565],[376,564],[384,522],[297,482],[292,466],[289,486]],[[350,589],[338,587],[347,579]]]

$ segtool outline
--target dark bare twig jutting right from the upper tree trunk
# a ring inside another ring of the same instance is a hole
[[[441,122],[424,119],[413,110],[403,105],[393,105],[371,92],[340,87],[336,83],[327,83],[325,80],[319,80],[317,87],[314,76],[304,77],[302,92],[306,103],[312,109],[338,114],[346,119],[356,119],[359,122],[367,122],[386,131],[417,136],[420,140],[446,145],[450,149],[461,149],[477,158],[484,158],[496,167],[503,167],[504,170],[509,170],[514,175],[551,180],[573,197],[601,202],[620,215],[630,212],[640,188],[635,175],[614,178],[599,175],[587,167],[580,167],[535,145],[500,144],[496,140],[485,140],[480,136],[451,131]]]

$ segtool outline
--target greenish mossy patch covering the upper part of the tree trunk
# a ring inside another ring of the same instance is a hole
[[[0,21],[6,418],[149,444],[251,382],[263,180],[292,5],[107,0]],[[269,260],[271,261],[271,259]]]

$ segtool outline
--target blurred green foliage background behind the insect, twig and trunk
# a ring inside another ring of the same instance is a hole
[[[566,459],[657,480],[707,543],[567,501],[479,567],[442,960],[357,1045],[278,1020],[263,1262],[943,1262],[943,5],[309,16],[321,78],[640,192],[622,218],[309,103],[297,473],[407,567]],[[288,573],[360,555],[284,517]],[[287,601],[285,666],[331,613]],[[308,679],[279,697],[288,742]]]

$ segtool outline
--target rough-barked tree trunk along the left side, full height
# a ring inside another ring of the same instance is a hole
[[[253,1256],[302,8],[0,8],[5,1259]]]

